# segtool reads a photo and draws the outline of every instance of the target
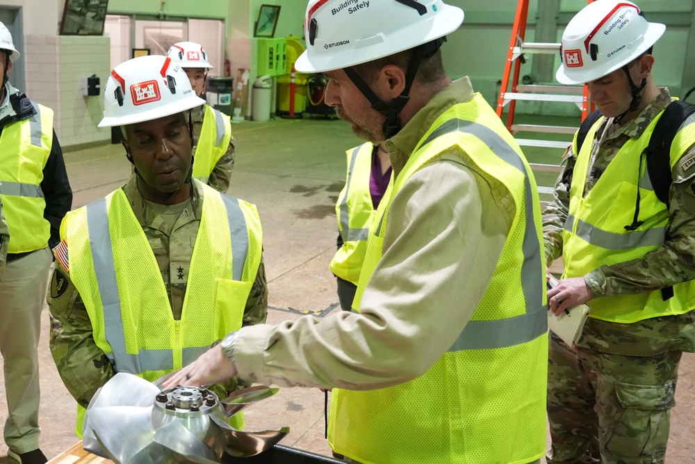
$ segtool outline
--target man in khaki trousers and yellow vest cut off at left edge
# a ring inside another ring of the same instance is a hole
[[[60,243],[60,221],[72,191],[53,111],[32,102],[9,82],[19,60],[12,35],[0,23],[0,199],[10,230],[0,283],[0,351],[5,367],[8,456],[42,464],[39,449],[38,342],[51,248]]]

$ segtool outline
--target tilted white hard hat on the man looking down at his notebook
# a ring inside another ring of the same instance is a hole
[[[664,24],[647,22],[635,3],[598,0],[572,18],[562,34],[560,83],[585,83],[620,69],[662,36]]]

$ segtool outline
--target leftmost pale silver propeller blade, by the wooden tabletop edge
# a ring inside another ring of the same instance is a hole
[[[152,406],[103,406],[92,408],[88,420],[106,458],[129,464],[133,456],[152,444]]]

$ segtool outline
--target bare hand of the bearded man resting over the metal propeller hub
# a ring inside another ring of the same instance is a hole
[[[179,369],[162,385],[162,390],[177,385],[213,385],[236,376],[236,368],[229,363],[222,352],[222,346],[214,346],[188,366]]]

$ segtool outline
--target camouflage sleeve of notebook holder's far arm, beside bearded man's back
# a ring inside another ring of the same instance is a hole
[[[572,184],[575,157],[572,145],[567,147],[562,156],[562,171],[553,192],[553,201],[543,210],[543,246],[546,251],[546,266],[562,256],[562,230],[569,216],[569,189]]]

